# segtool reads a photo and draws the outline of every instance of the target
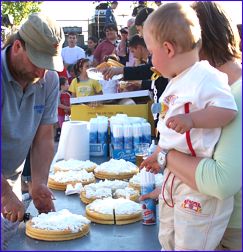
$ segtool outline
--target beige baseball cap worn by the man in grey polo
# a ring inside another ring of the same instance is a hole
[[[20,27],[19,35],[34,65],[58,72],[63,70],[61,50],[65,37],[55,20],[41,13],[33,13]]]

